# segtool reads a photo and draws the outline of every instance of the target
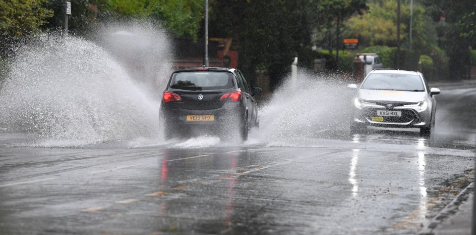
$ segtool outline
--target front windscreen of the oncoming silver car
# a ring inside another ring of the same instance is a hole
[[[420,76],[412,74],[374,73],[368,75],[360,89],[424,92]]]

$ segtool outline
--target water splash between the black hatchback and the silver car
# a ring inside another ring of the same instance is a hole
[[[249,144],[305,146],[309,139],[331,133],[347,138],[353,90],[336,76],[298,70],[296,88],[288,78],[259,112],[259,132]]]

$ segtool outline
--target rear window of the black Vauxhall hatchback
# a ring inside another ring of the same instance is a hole
[[[179,72],[172,75],[169,87],[182,90],[218,90],[233,88],[233,73],[193,71]]]

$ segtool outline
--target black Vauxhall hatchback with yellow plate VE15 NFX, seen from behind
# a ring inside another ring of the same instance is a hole
[[[161,123],[166,138],[190,131],[214,132],[230,139],[248,139],[258,127],[255,94],[238,69],[196,67],[172,73],[162,95]]]

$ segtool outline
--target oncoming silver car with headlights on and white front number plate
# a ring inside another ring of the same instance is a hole
[[[349,88],[357,88],[351,84]],[[353,99],[351,133],[366,126],[419,128],[429,136],[435,125],[437,88],[429,88],[423,74],[403,70],[373,70]]]

